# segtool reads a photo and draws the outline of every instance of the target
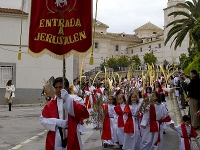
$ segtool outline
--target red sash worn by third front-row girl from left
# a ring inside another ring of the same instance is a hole
[[[132,113],[131,113],[129,105],[125,106],[124,113],[127,113],[127,115],[128,115],[128,119],[126,120],[126,123],[124,125],[124,132],[125,133],[134,133],[133,118],[132,118]]]

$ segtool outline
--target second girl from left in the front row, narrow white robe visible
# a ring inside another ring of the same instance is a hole
[[[126,99],[123,94],[117,96],[118,105],[114,107],[115,110],[115,119],[116,119],[116,141],[120,148],[123,147],[124,143],[124,108]]]

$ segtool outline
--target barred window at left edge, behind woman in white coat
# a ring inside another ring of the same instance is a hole
[[[13,66],[0,66],[0,87],[6,87],[8,80],[13,80]]]

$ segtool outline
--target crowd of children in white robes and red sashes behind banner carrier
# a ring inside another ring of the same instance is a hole
[[[171,127],[180,135],[179,149],[192,150],[190,138],[199,137],[188,116],[183,116],[181,125],[174,126],[167,109],[169,91],[163,80],[155,81],[154,85],[133,80],[129,87],[127,80],[123,80],[114,83],[111,89],[105,88],[104,82],[97,88],[87,82],[84,104],[91,112],[96,98],[102,99],[101,137],[105,148],[118,144],[124,150],[162,150],[163,134]]]

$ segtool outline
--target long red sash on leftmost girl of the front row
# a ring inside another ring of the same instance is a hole
[[[108,104],[102,105],[103,114],[104,114],[104,121],[103,121],[103,129],[102,129],[102,139],[103,140],[111,140],[111,129],[110,129],[110,118],[108,113]]]

